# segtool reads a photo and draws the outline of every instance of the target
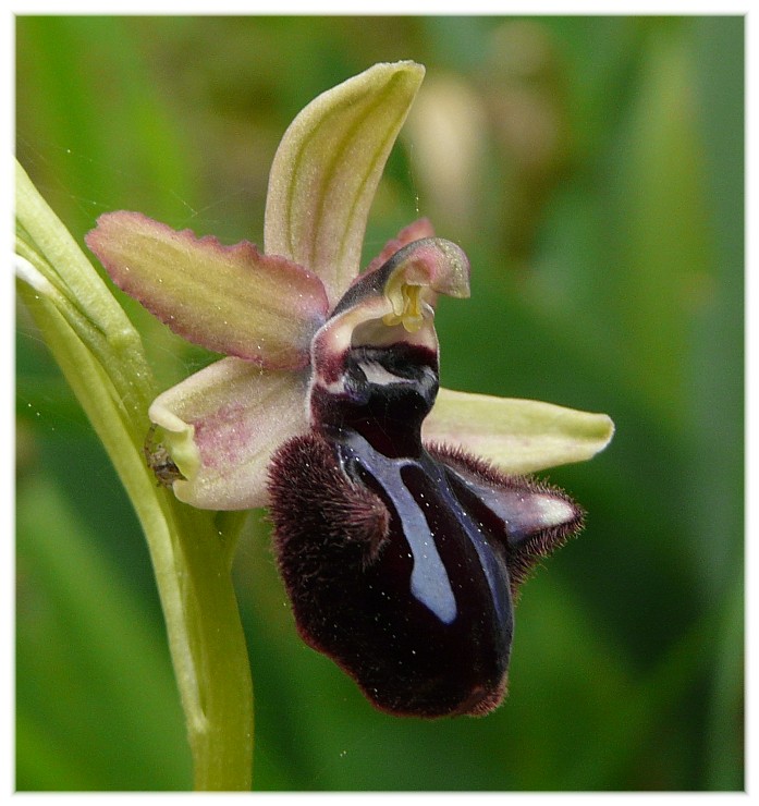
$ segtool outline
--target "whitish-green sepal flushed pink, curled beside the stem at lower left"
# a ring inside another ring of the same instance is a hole
[[[223,358],[156,398],[148,414],[185,477],[176,498],[206,510],[266,505],[272,453],[308,428],[306,383],[306,373]]]

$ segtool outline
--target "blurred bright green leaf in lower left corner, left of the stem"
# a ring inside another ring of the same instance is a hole
[[[16,787],[184,789],[168,647],[138,591],[47,474],[22,479],[16,517]]]

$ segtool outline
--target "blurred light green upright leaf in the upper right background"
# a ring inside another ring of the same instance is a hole
[[[621,155],[627,271],[610,301],[635,345],[625,363],[628,382],[675,427],[687,405],[681,356],[694,309],[708,293],[713,248],[693,58],[682,36],[651,32]]]

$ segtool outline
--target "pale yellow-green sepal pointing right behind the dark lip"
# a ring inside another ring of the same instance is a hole
[[[534,473],[591,459],[609,444],[614,424],[605,414],[441,389],[421,433],[505,473]]]

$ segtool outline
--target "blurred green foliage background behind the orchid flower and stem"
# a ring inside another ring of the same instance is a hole
[[[425,63],[367,260],[429,216],[473,264],[473,298],[440,306],[442,382],[616,423],[549,474],[588,527],[525,586],[485,719],[372,710],[297,638],[254,513],[256,789],[743,789],[743,45],[715,16],[17,17],[17,156],[79,242],[125,208],[260,243],[297,111]],[[120,298],[161,388],[211,359]],[[16,786],[187,789],[139,527],[17,322]]]

